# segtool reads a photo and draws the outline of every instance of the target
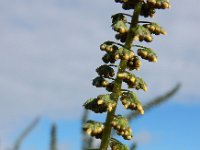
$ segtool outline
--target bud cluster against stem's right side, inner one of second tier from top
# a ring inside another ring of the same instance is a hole
[[[134,33],[134,40],[135,41],[146,41],[151,42],[153,40],[153,37],[151,35],[151,32],[145,28],[144,26],[138,25],[136,28],[132,29]]]

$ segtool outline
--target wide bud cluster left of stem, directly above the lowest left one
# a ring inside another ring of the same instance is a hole
[[[111,99],[110,94],[105,94],[99,95],[97,98],[88,99],[83,106],[95,113],[103,113],[112,111],[116,106],[116,102]]]

